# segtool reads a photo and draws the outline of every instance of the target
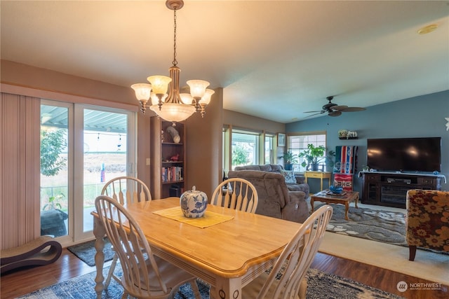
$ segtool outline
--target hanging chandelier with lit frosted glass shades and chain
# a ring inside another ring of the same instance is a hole
[[[208,81],[189,80],[190,93],[180,93],[180,71],[176,60],[176,11],[184,6],[182,0],[167,0],[166,6],[173,11],[173,66],[169,69],[170,76],[149,76],[148,83],[131,85],[135,90],[135,97],[140,102],[140,111],[145,114],[147,102],[151,99],[149,109],[160,118],[175,122],[186,120],[196,111],[201,112],[201,117],[206,113],[206,106],[214,91],[206,89]],[[168,90],[168,93],[167,93]]]

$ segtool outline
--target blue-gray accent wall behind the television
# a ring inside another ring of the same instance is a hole
[[[370,106],[366,111],[346,112],[338,117],[322,116],[289,123],[286,132],[326,130],[329,149],[358,146],[358,170],[366,165],[366,139],[441,137],[441,174],[449,180],[449,131],[445,127],[445,118],[449,118],[449,90]],[[358,139],[338,139],[338,130],[342,129],[357,131]],[[354,190],[361,191],[361,185],[361,179],[355,176]],[[317,192],[316,182],[311,182],[310,188],[311,192]],[[449,183],[442,182],[441,189],[449,190]]]

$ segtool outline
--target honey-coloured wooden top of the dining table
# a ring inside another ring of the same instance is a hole
[[[212,204],[208,204],[205,216],[213,218],[220,214],[227,219],[204,228],[188,223],[194,218],[185,223],[162,216],[164,210],[175,207],[182,214],[179,197],[135,202],[125,207],[153,249],[220,277],[239,277],[250,267],[278,257],[301,225]]]

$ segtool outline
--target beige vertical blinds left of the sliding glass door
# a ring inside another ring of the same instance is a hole
[[[1,93],[1,249],[40,235],[40,99]]]

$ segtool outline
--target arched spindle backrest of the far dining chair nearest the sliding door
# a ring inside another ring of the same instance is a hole
[[[152,200],[147,185],[132,176],[118,176],[107,181],[101,190],[101,194],[112,197],[121,204]]]

